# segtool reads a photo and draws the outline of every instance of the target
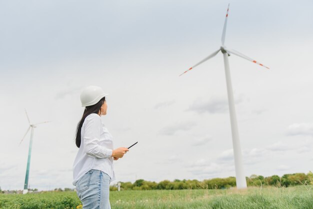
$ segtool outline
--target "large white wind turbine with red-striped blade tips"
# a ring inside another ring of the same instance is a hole
[[[232,93],[232,86],[231,86],[231,79],[230,79],[230,72],[229,72],[229,64],[228,64],[228,56],[230,54],[234,54],[237,56],[240,56],[244,59],[247,59],[249,61],[252,61],[256,64],[259,64],[260,66],[266,67],[269,69],[267,66],[255,61],[254,59],[243,55],[242,53],[233,50],[233,49],[228,49],[224,45],[225,41],[225,33],[226,33],[226,26],[227,26],[227,18],[228,18],[228,10],[229,10],[229,3],[228,3],[228,8],[226,12],[226,17],[225,17],[225,22],[224,22],[224,27],[223,27],[223,32],[221,35],[221,46],[219,49],[181,73],[180,75],[186,73],[187,71],[193,69],[197,65],[203,63],[204,61],[212,58],[215,56],[219,51],[222,52],[223,58],[224,58],[224,66],[225,66],[225,76],[226,76],[226,85],[227,85],[227,95],[228,95],[228,105],[229,105],[229,114],[230,114],[230,124],[231,124],[231,135],[232,135],[232,146],[233,146],[233,154],[234,154],[234,162],[235,162],[235,173],[236,173],[236,186],[237,188],[246,188],[246,180],[245,176],[243,173],[243,164],[242,164],[242,156],[241,156],[241,148],[240,148],[240,140],[239,140],[239,133],[238,133],[238,126],[237,126],[237,119],[236,119],[236,112],[235,112],[235,106],[234,106],[234,101],[233,101],[233,93]],[[179,76],[180,76],[179,75]]]

